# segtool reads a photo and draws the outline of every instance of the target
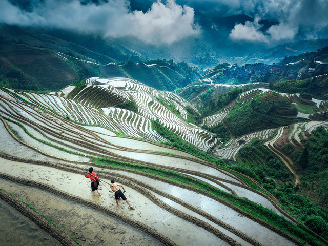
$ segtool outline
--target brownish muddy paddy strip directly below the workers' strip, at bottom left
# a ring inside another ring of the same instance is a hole
[[[126,223],[52,193],[3,179],[0,179],[0,186],[25,202],[32,203],[38,211],[53,219],[58,227],[64,228],[66,233],[73,235],[83,245],[162,245]]]

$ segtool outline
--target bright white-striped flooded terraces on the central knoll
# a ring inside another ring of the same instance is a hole
[[[114,87],[119,91],[117,94],[122,98],[127,99],[131,96],[134,99],[138,106],[137,114],[122,109],[101,108],[106,116],[116,121],[117,124],[122,125],[122,127],[126,129],[125,132],[130,128],[129,126],[138,129],[134,132],[131,130],[128,135],[137,136],[136,132],[139,131],[141,134],[148,137],[143,131],[144,129],[148,129],[147,131],[151,132],[149,119],[153,119],[158,120],[161,125],[201,150],[206,151],[216,143],[216,138],[214,138],[209,132],[204,131],[197,126],[190,125],[183,120],[183,118],[187,118],[187,111],[183,107],[189,106],[194,109],[195,112],[197,112],[197,110],[185,99],[173,93],[158,91],[136,80],[128,78],[100,79],[94,77],[90,78],[87,83],[90,83],[90,85],[102,84],[103,87]],[[172,105],[173,108],[180,112],[181,118],[159,103],[157,98],[165,101],[168,105]],[[159,139],[158,136],[151,139],[164,141],[164,139]]]

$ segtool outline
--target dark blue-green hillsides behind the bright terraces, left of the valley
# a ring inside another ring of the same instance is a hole
[[[190,83],[188,74],[196,77],[182,65],[167,61],[162,65],[137,64],[129,61],[123,65],[96,64],[92,59],[87,60],[67,54],[58,53],[52,49],[39,48],[24,43],[18,43],[2,36],[0,39],[1,85],[14,89],[26,90],[58,90],[69,84],[87,77],[131,77],[156,89],[172,91]],[[184,73],[180,74],[177,71]]]

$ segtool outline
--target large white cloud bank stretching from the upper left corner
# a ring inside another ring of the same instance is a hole
[[[132,12],[128,0],[109,0],[100,5],[81,5],[79,0],[44,0],[37,2],[31,12],[2,0],[0,22],[65,27],[114,37],[133,35],[155,44],[172,43],[200,33],[200,27],[194,24],[194,10],[180,6],[174,0],[168,0],[166,4],[155,2],[146,13]]]

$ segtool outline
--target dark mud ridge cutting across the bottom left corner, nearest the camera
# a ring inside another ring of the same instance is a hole
[[[7,202],[10,206],[15,208],[18,212],[28,217],[34,223],[37,224],[41,229],[50,234],[53,238],[60,242],[61,245],[71,246],[77,245],[76,242],[65,232],[55,227],[42,215],[39,215],[34,210],[29,208],[23,201],[18,200],[12,195],[8,194],[4,190],[0,190],[0,198]]]

